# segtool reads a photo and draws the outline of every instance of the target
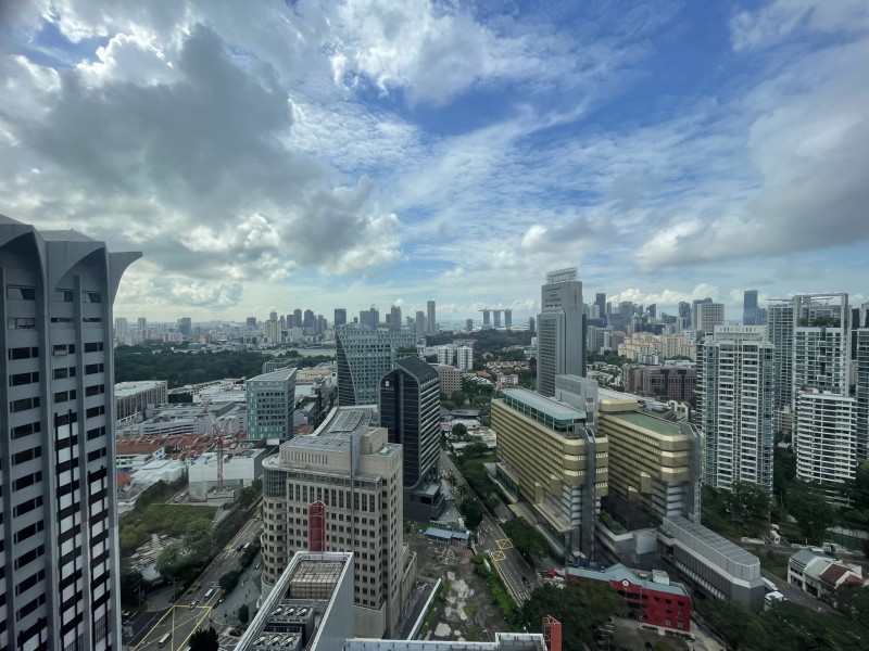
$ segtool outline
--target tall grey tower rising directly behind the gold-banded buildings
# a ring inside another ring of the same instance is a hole
[[[582,283],[577,268],[546,275],[537,327],[537,391],[555,395],[555,375],[585,375]]]

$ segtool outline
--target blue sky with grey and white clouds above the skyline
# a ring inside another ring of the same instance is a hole
[[[865,0],[8,0],[0,214],[115,315],[869,299]]]

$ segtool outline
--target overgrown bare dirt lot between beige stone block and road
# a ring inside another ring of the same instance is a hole
[[[405,540],[417,553],[420,574],[440,578],[445,586],[432,603],[419,639],[483,641],[507,630],[464,546],[433,542],[419,535],[406,535]]]

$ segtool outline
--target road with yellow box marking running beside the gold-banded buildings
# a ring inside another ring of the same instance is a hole
[[[465,487],[465,495],[474,494],[465,477],[444,451],[441,451],[441,468],[455,475],[456,483]],[[498,519],[489,514],[483,515],[482,523],[477,529],[477,549],[488,553],[492,559],[501,579],[517,603],[527,601],[534,588],[539,587],[540,579],[533,567],[513,547]]]

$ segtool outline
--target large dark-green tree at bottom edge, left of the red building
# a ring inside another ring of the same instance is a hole
[[[539,633],[543,617],[551,615],[562,623],[565,649],[584,649],[594,641],[597,628],[610,617],[628,614],[625,600],[610,586],[594,580],[569,580],[564,589],[543,586],[531,592],[520,611],[521,623]]]

